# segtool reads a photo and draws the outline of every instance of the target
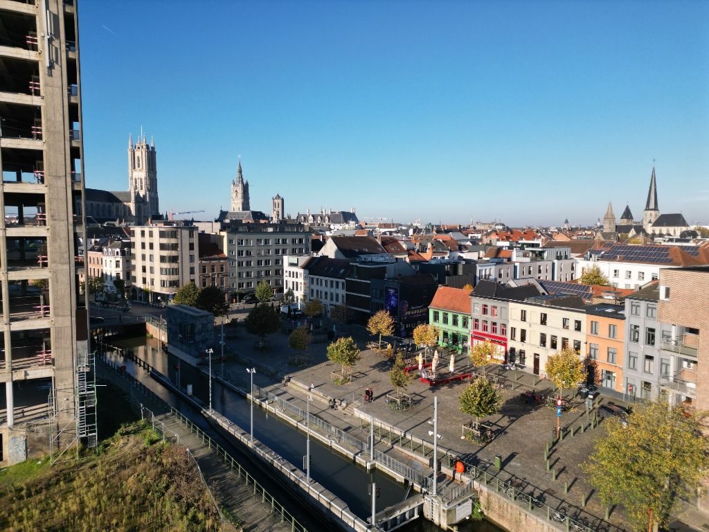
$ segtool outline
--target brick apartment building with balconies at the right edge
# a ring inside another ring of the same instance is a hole
[[[709,409],[709,266],[660,270],[660,388],[671,402]],[[706,499],[704,499],[706,501]]]

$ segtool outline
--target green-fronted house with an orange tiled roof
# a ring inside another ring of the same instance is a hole
[[[438,344],[458,353],[470,350],[470,290],[438,287],[428,306],[428,321],[440,330]]]

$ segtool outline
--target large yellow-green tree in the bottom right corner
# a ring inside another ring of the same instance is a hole
[[[603,504],[623,504],[639,530],[667,526],[676,502],[691,499],[709,469],[704,416],[659,399],[636,406],[627,427],[604,421],[606,436],[582,466]]]

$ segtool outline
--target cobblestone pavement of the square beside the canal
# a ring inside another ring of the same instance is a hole
[[[238,317],[245,316],[242,311]],[[520,394],[526,390],[533,390],[537,394],[549,396],[552,394],[552,384],[540,381],[538,377],[525,372],[503,370],[498,365],[490,365],[487,370],[489,376],[497,377],[500,381],[507,382],[511,389],[503,389],[503,407],[496,416],[486,418],[495,431],[496,438],[487,445],[479,446],[462,438],[462,425],[471,419],[459,410],[459,394],[467,386],[467,382],[453,382],[440,387],[430,387],[415,378],[406,390],[413,399],[413,406],[406,411],[397,411],[386,405],[386,394],[396,394],[396,390],[389,382],[389,369],[391,360],[387,360],[378,353],[367,350],[366,344],[372,337],[363,328],[350,327],[343,331],[351,334],[362,349],[362,360],[353,370],[353,381],[350,384],[337,385],[333,383],[333,373],[339,372],[340,367],[330,362],[325,350],[328,343],[312,344],[307,367],[296,367],[289,361],[293,358],[293,350],[288,347],[288,337],[276,333],[268,337],[269,346],[265,350],[255,347],[257,338],[244,331],[242,327],[233,328],[236,336],[230,333],[225,336],[228,355],[231,359],[226,362],[225,371],[235,382],[247,382],[245,367],[257,367],[255,384],[269,387],[272,392],[285,394],[295,401],[304,401],[307,389],[314,385],[313,397],[320,401],[320,411],[311,410],[329,423],[347,431],[359,431],[363,420],[354,415],[346,414],[342,410],[330,410],[327,401],[330,397],[343,399],[349,403],[357,402],[357,409],[364,414],[374,416],[382,423],[395,426],[406,433],[410,433],[424,440],[431,440],[428,435],[432,431],[433,397],[438,397],[438,433],[442,436],[439,445],[442,449],[463,458],[473,464],[489,464],[500,456],[503,472],[515,477],[522,482],[525,492],[542,497],[552,504],[552,501],[563,499],[559,506],[565,513],[574,515],[581,512],[591,514],[596,519],[603,519],[605,508],[600,499],[594,494],[591,486],[586,482],[581,464],[586,461],[592,452],[593,442],[604,433],[603,422],[596,428],[588,428],[586,421],[586,408],[582,399],[571,401],[571,411],[564,412],[561,417],[561,426],[566,428],[567,436],[562,441],[552,443],[557,423],[555,409],[545,404],[525,404],[520,399]],[[219,328],[217,329],[219,331]],[[440,365],[447,372],[450,354],[440,352]],[[414,362],[411,362],[413,365]],[[259,371],[261,368],[262,371]],[[456,355],[454,370],[456,373],[472,372],[469,359],[463,355]],[[288,375],[291,382],[284,384],[283,377]],[[273,384],[274,379],[281,381]],[[364,402],[364,390],[374,389],[374,401]],[[571,392],[566,391],[566,396],[571,397]],[[601,402],[612,401],[624,404],[622,400],[613,397],[598,397],[596,406]],[[593,419],[593,410],[588,418]],[[581,432],[581,427],[584,431]],[[573,431],[571,431],[573,429]],[[568,436],[569,433],[573,436]],[[364,436],[364,431],[362,431]],[[366,436],[364,436],[366,439]],[[547,470],[545,450],[549,445],[549,467],[555,470],[556,478],[552,479],[552,471]],[[568,488],[568,493],[565,489]],[[584,507],[584,499],[586,504]],[[557,501],[558,502],[558,501]],[[688,521],[699,522],[701,514],[691,514]],[[623,515],[617,509],[610,509],[610,522],[621,528],[627,527]],[[679,525],[677,525],[679,526]],[[689,529],[689,528],[688,528]]]

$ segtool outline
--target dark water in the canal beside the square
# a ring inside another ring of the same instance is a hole
[[[163,353],[160,350],[160,342],[154,338],[132,338],[116,342],[116,344],[123,348],[132,349],[135,355],[155,367],[158,372],[167,375],[172,382],[177,382],[179,378],[182,387],[185,387],[186,384],[192,384],[193,393],[196,397],[204,401],[208,398],[206,376],[184,363],[180,365],[179,375],[177,375],[175,370],[177,359],[174,359],[172,355]],[[152,380],[147,377],[143,370],[138,369],[138,371],[135,371],[131,367],[130,361],[122,360],[121,363],[125,364],[129,372],[136,377]],[[220,370],[219,365],[214,365],[212,370],[218,373]],[[156,390],[160,397],[166,401],[171,399],[171,392],[162,387],[160,388],[160,390]],[[250,404],[247,399],[213,381],[212,403],[214,409],[220,411],[244,430],[249,430]],[[317,414],[318,410],[313,408],[312,413]],[[261,440],[296,467],[303,465],[303,455],[306,453],[306,435],[294,430],[291,425],[280,421],[276,416],[268,414],[267,411],[258,407],[254,408],[254,438]],[[376,499],[377,511],[391,504],[396,504],[405,495],[403,485],[398,484],[390,477],[376,470],[367,472],[367,470],[355,465],[342,455],[330,452],[325,445],[313,439],[311,439],[311,477],[330,490],[330,492],[347,501],[354,514],[364,520],[367,520],[367,517],[372,514],[371,497],[367,495],[367,487],[370,482],[376,482],[376,485],[381,488],[381,495]],[[400,530],[404,532],[434,532],[440,531],[442,528],[433,525],[425,519],[418,519],[415,523],[400,528]],[[459,526],[459,530],[476,532],[502,531],[501,528],[486,521],[481,523],[462,523]]]

